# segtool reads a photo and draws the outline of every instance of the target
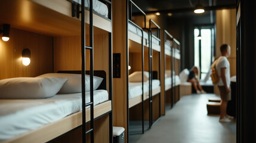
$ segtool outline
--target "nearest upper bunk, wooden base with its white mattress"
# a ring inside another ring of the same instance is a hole
[[[94,0],[96,1],[96,0]],[[11,27],[48,36],[81,35],[81,1],[73,0],[14,0],[0,1],[0,23],[11,24]],[[88,0],[85,0],[85,4]],[[111,20],[106,17],[108,6],[102,2],[94,3],[94,33],[112,32]],[[86,6],[86,5],[85,5]],[[78,10],[79,8],[79,10]],[[102,12],[103,11],[103,12]],[[85,31],[89,34],[89,14],[85,10]]]

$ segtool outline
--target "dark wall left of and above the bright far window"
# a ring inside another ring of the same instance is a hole
[[[204,14],[177,13],[164,18],[166,27],[175,39],[181,43],[181,70],[194,65],[194,28],[202,24],[215,23],[215,11]]]

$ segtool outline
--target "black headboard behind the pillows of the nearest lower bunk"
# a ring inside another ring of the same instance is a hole
[[[73,74],[81,74],[81,70],[66,70],[66,71],[57,71],[57,73],[73,73]],[[90,74],[90,71],[85,71],[85,74]],[[103,80],[100,86],[97,89],[107,90],[107,80],[106,80],[106,71],[104,70],[94,70],[94,76],[102,77]]]

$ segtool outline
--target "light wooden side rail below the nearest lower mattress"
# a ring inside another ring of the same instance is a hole
[[[106,101],[101,104],[94,106],[94,119],[112,110],[112,101]],[[90,108],[86,110],[87,122],[90,121]],[[63,135],[72,129],[82,125],[82,111],[70,114],[57,122],[50,123],[42,126],[39,129],[31,130],[30,132],[24,133],[16,138],[8,139],[2,143],[14,143],[14,142],[47,142],[57,136]]]

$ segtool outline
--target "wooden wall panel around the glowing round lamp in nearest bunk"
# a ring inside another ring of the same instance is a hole
[[[29,66],[24,66],[21,61],[22,51],[26,48],[31,52]],[[53,38],[11,28],[10,40],[0,40],[0,65],[0,79],[53,72]]]

